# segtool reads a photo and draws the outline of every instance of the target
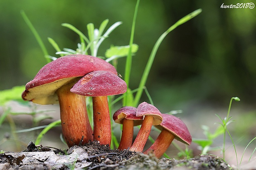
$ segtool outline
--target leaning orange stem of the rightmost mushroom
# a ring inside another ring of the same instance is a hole
[[[171,142],[173,141],[175,135],[166,129],[163,129],[156,141],[152,144],[149,149],[143,152],[143,154],[148,154],[149,151],[153,151],[156,158],[160,158],[164,152],[168,149]]]

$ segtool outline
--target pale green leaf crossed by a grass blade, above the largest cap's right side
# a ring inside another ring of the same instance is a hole
[[[107,58],[110,58],[112,56],[120,56],[124,57],[127,56],[129,53],[130,45],[126,46],[111,46],[109,49],[107,49],[105,56]],[[139,49],[139,46],[137,44],[132,44],[132,53],[136,53]]]

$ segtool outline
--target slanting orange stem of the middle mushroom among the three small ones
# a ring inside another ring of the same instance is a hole
[[[147,142],[147,139],[152,128],[153,120],[153,116],[145,116],[140,127],[140,130],[137,134],[137,137],[135,138],[133,145],[129,149],[130,151],[143,151],[143,148],[145,147],[145,144]]]

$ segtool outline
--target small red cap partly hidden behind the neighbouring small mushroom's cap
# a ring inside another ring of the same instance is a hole
[[[141,125],[143,121],[143,116],[137,117],[136,110],[137,108],[132,106],[121,107],[120,109],[116,110],[113,115],[113,119],[116,123],[119,124],[123,124],[123,119],[128,119],[134,121],[134,126]]]

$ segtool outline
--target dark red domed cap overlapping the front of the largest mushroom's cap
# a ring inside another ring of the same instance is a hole
[[[126,82],[108,71],[91,72],[70,89],[72,93],[94,97],[123,94],[126,90]]]

